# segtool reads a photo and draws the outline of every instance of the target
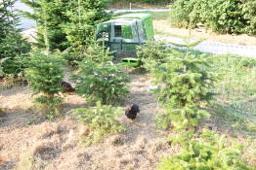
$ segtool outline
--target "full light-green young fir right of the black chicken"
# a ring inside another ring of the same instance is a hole
[[[164,60],[164,63],[151,62],[149,68],[155,84],[161,86],[156,93],[166,109],[166,114],[157,116],[157,122],[162,128],[170,123],[178,128],[193,127],[200,119],[209,117],[200,109],[200,104],[213,96],[209,90],[214,77],[208,72],[207,60],[180,52]]]

